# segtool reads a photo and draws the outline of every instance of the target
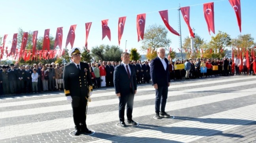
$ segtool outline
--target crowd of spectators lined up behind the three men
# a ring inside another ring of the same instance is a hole
[[[169,72],[171,81],[193,78],[205,78],[213,76],[229,75],[255,75],[253,71],[253,60],[250,56],[250,68],[246,66],[246,58],[240,61],[235,56],[234,61],[230,58],[209,58],[209,59],[170,59]],[[232,66],[232,63],[235,63]],[[239,65],[243,62],[243,69]],[[119,65],[119,61],[94,61],[89,64],[89,71],[93,82],[93,88],[114,87],[114,68]],[[150,60],[130,61],[129,64],[135,67],[137,84],[151,82]],[[184,64],[184,69],[175,69],[175,65]],[[213,69],[213,66],[218,66]],[[201,67],[205,67],[207,72],[201,73]],[[33,65],[10,64],[0,66],[0,95],[38,93],[42,91],[63,90],[63,68],[64,64],[38,63]],[[37,73],[37,74],[36,74]]]

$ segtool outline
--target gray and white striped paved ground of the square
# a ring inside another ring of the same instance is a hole
[[[113,88],[94,90],[87,126],[91,136],[70,136],[71,105],[63,93],[0,98],[0,143],[57,142],[256,142],[256,76],[214,77],[172,82],[166,111],[174,119],[154,119],[150,84],[139,84],[133,120],[120,128]],[[72,134],[71,134],[72,135]]]

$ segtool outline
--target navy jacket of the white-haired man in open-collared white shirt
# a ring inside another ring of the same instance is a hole
[[[166,70],[164,69],[163,63],[158,56],[152,59],[152,61],[150,62],[150,76],[153,85],[157,84],[157,86],[168,86],[168,83],[171,82],[168,60],[166,58],[165,62],[167,65]]]

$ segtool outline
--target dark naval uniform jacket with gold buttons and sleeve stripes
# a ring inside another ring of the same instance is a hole
[[[66,96],[88,97],[88,86],[92,85],[89,65],[80,62],[80,71],[73,62],[65,65],[63,69],[63,85]]]

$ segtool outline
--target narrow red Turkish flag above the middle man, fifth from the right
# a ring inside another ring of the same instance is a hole
[[[143,40],[144,38],[144,29],[146,23],[146,13],[137,15],[137,34],[138,34],[138,41],[140,38]]]

